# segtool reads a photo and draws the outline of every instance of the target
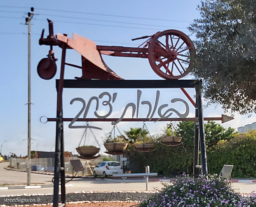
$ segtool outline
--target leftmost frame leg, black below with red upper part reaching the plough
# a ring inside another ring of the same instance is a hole
[[[62,57],[60,68],[60,81],[57,88],[57,115],[56,115],[56,142],[55,142],[55,167],[54,167],[54,190],[53,190],[53,207],[59,205],[59,177],[60,177],[60,154],[61,154],[61,133],[62,133],[62,92],[63,92],[63,79],[64,68],[66,59],[67,44],[62,44]],[[64,149],[64,146],[63,146]],[[64,184],[65,188],[65,184]],[[62,198],[62,197],[61,197]],[[62,200],[62,199],[61,199]],[[65,203],[64,203],[65,204]]]

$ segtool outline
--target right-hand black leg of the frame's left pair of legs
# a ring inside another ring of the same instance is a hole
[[[63,117],[63,110],[62,110]],[[61,141],[60,141],[60,186],[61,186],[61,202],[66,204],[66,188],[65,188],[65,146],[64,146],[64,128],[63,122],[61,122]]]

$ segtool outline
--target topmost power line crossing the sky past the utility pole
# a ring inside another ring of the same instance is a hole
[[[28,8],[28,7],[21,7],[21,6],[0,6],[0,7],[7,7],[7,8]],[[81,12],[81,11],[69,11],[69,10],[60,10],[60,9],[46,9],[46,8],[35,8],[38,10],[48,10],[48,11],[59,11],[59,12],[71,12],[77,14],[90,14],[90,15],[99,15],[99,16],[110,16],[110,17],[123,17],[123,18],[133,18],[133,19],[147,19],[147,20],[158,20],[158,21],[171,21],[171,22],[188,22],[191,21],[183,21],[183,20],[170,20],[170,19],[154,19],[154,18],[145,18],[145,17],[131,17],[131,16],[121,16],[121,15],[109,15],[109,14],[98,14],[98,13],[90,13],[90,12]]]

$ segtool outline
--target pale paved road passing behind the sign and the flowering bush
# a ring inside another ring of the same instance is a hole
[[[9,184],[25,184],[27,182],[27,174],[23,172],[8,171],[3,169],[7,163],[0,163],[0,185],[4,183]],[[40,175],[32,173],[32,183],[51,184],[52,175]],[[69,178],[67,178],[68,180]],[[146,190],[144,180],[114,180],[114,179],[88,179],[76,178],[69,184],[73,186],[67,187],[67,192],[81,192],[81,191],[120,191],[120,190]],[[234,188],[239,189],[242,193],[250,193],[256,190],[256,183],[233,183]],[[150,182],[149,190],[154,188],[161,189],[160,182]],[[37,193],[53,193],[53,188],[39,188],[39,189],[15,189],[15,190],[0,190],[1,195],[23,195],[37,194]]]

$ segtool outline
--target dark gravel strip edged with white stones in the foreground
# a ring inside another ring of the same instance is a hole
[[[67,193],[67,202],[71,201],[142,201],[151,197],[150,192],[98,192],[98,193]],[[12,200],[7,200],[12,199]],[[35,199],[34,202],[30,199]],[[41,196],[10,196],[1,197],[0,205],[29,205],[52,203],[53,195]],[[22,202],[21,202],[22,201]],[[122,206],[122,205],[121,205]]]

